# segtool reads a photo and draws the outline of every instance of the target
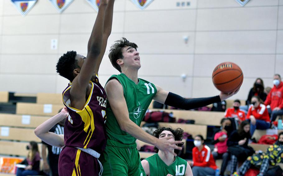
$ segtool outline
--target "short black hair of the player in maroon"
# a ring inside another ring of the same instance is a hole
[[[73,81],[74,69],[78,68],[78,60],[76,59],[77,52],[76,51],[68,51],[63,54],[56,65],[56,70],[59,75],[67,78],[69,81]]]

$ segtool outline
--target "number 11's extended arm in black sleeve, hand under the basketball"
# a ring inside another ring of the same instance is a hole
[[[238,90],[230,94],[220,92],[219,95],[214,97],[185,99],[179,95],[163,90],[160,86],[155,85],[155,87],[157,88],[157,93],[153,98],[154,100],[162,104],[186,110],[200,108],[212,103],[223,101],[238,92]]]

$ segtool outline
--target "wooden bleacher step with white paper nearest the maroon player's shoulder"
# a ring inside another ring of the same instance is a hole
[[[51,106],[51,112],[45,113],[44,107]],[[58,114],[60,109],[64,108],[61,104],[42,104],[42,103],[17,103],[16,114],[29,114],[29,115],[42,115],[42,116],[54,116]]]

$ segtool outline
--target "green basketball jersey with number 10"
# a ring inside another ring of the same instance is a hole
[[[151,176],[166,176],[167,174],[185,175],[187,168],[187,161],[179,156],[176,156],[175,161],[169,166],[161,160],[158,153],[146,158],[145,160],[149,163]]]

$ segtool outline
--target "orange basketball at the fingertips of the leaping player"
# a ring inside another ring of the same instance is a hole
[[[243,80],[244,75],[241,68],[232,62],[223,62],[217,65],[212,73],[214,86],[224,93],[238,90]]]

